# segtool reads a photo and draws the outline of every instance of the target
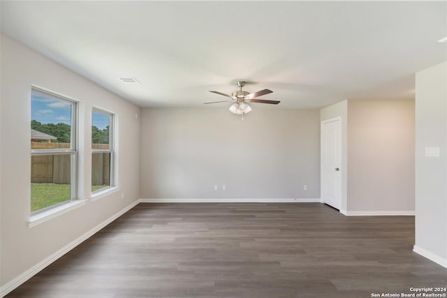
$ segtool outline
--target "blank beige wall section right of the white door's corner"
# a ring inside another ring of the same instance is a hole
[[[414,100],[349,100],[348,211],[414,211]]]

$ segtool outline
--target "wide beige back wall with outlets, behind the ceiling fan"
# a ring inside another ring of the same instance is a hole
[[[320,198],[318,132],[318,110],[145,108],[141,198]]]

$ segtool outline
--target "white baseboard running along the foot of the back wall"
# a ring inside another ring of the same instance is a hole
[[[316,199],[294,199],[294,198],[144,198],[142,203],[319,203]]]

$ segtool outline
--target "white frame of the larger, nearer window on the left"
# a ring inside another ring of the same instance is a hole
[[[77,189],[78,189],[78,101],[69,98],[68,96],[64,96],[61,94],[57,94],[56,92],[42,89],[36,86],[31,86],[31,94],[30,94],[30,103],[32,103],[32,95],[38,94],[41,96],[50,97],[56,100],[66,101],[71,104],[71,135],[70,135],[70,148],[69,149],[31,149],[30,157],[32,156],[44,156],[44,155],[70,155],[70,200],[66,200],[64,202],[59,202],[57,204],[52,204],[51,206],[38,209],[36,211],[31,211],[31,195],[29,197],[29,207],[30,207],[30,216],[36,216],[37,214],[42,214],[45,211],[49,211],[51,209],[60,207],[61,205],[73,203],[77,200]],[[31,118],[31,117],[30,117]],[[30,123],[31,123],[30,119]],[[30,161],[31,162],[31,161]],[[31,171],[30,171],[30,182],[31,185]]]

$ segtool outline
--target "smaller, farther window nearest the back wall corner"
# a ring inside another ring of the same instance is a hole
[[[113,114],[91,111],[91,191],[113,185]]]

